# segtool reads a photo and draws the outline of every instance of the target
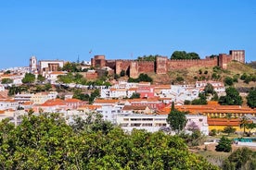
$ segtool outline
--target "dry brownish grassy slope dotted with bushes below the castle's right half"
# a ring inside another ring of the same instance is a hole
[[[169,71],[166,75],[157,75],[155,73],[148,73],[148,75],[153,79],[155,84],[193,84],[197,80],[211,79],[224,81],[226,77],[237,77],[238,82],[235,83],[236,88],[255,87],[255,82],[250,81],[250,83],[245,83],[239,79],[244,73],[256,75],[256,70],[248,65],[233,61],[227,65],[227,69],[221,69],[220,67],[189,67]]]

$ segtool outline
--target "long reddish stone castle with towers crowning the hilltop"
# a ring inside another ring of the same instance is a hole
[[[120,74],[122,70],[137,78],[141,73],[155,72],[156,74],[166,74],[170,70],[178,70],[187,67],[214,67],[219,66],[226,69],[227,64],[232,60],[245,63],[244,50],[230,50],[229,55],[220,54],[217,57],[206,57],[205,59],[173,60],[167,56],[157,56],[156,61],[137,61],[137,60],[106,60],[105,55],[95,55],[91,59],[92,67],[110,67]]]

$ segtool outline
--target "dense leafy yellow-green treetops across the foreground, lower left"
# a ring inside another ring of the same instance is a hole
[[[0,132],[0,169],[217,169],[177,136],[127,134],[100,115],[68,126],[58,114],[31,113],[17,128],[2,121]]]

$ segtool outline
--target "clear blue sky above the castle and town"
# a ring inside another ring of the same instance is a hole
[[[255,0],[0,0],[0,68],[229,50],[256,61]]]

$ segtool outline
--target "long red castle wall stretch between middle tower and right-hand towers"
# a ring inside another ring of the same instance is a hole
[[[170,71],[187,67],[214,67],[217,65],[218,59],[216,57],[198,60],[168,60],[167,69]]]

